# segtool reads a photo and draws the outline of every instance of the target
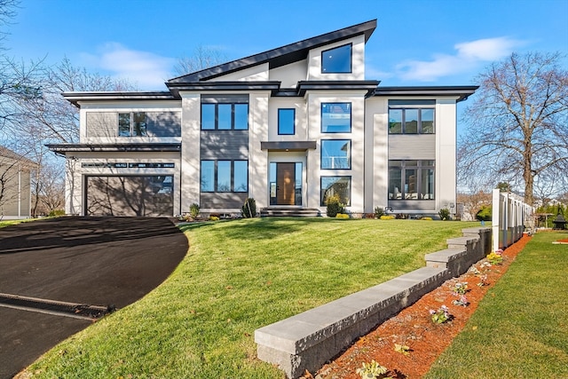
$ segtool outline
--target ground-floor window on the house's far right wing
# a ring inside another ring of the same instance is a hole
[[[390,200],[433,200],[434,161],[389,161]]]

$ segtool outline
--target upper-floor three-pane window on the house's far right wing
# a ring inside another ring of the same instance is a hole
[[[433,134],[434,108],[390,108],[389,134]]]

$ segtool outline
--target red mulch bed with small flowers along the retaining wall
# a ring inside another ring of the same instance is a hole
[[[480,274],[476,275],[468,271],[459,278],[447,280],[439,288],[422,296],[416,303],[383,322],[367,336],[361,337],[350,348],[343,351],[335,360],[322,367],[317,373],[318,378],[359,379],[360,376],[356,374],[357,368],[361,367],[363,362],[370,363],[372,359],[387,367],[389,369],[387,375],[393,378],[421,378],[428,372],[442,351],[452,343],[454,336],[460,333],[487,290],[492,288],[507,271],[518,252],[530,239],[524,235],[521,240],[505,249],[502,254],[502,265],[489,265],[484,259],[474,265]],[[485,282],[487,283],[481,287],[477,285],[481,280],[480,275],[486,275]],[[469,301],[468,306],[452,303],[459,298],[453,293],[455,284],[458,282],[468,283],[466,294]],[[441,305],[446,305],[454,318],[443,324],[434,324],[429,310],[438,310]],[[410,353],[404,355],[394,351],[395,343],[408,346]],[[312,378],[313,376],[306,373],[303,377]]]

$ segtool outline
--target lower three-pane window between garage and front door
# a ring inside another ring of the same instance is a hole
[[[248,192],[248,161],[201,161],[201,192]]]

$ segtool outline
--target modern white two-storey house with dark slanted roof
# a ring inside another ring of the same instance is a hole
[[[68,214],[173,216],[316,209],[338,195],[436,214],[455,203],[456,104],[475,86],[381,87],[365,77],[376,20],[169,80],[168,91],[66,92],[80,108]]]

